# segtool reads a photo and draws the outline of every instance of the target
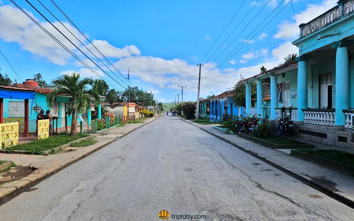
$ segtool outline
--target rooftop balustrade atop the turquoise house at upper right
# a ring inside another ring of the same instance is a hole
[[[339,17],[352,13],[353,11],[354,11],[354,0],[347,0],[344,3],[343,7],[337,5],[336,7],[331,8],[329,11],[321,14],[319,17],[313,19],[312,21],[304,25],[301,25],[300,26],[301,37],[309,35],[314,31],[336,21]]]

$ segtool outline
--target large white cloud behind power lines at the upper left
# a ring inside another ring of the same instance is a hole
[[[31,12],[27,11],[27,13],[70,50],[75,50],[75,46],[65,39],[51,24],[39,21]],[[63,24],[75,34],[78,39],[81,41],[85,40],[84,36],[78,33],[69,23],[63,22]],[[62,24],[53,22],[53,25],[62,31],[65,36],[68,36],[75,45],[79,45],[79,41],[76,40]],[[55,64],[65,65],[68,63],[67,60],[72,57],[23,12],[11,5],[0,6],[0,38],[5,42],[17,42],[22,49],[32,52],[35,55],[45,57]]]

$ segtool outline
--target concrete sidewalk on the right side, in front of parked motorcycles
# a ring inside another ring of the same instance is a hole
[[[344,174],[337,170],[321,167],[318,164],[290,156],[285,152],[270,149],[250,140],[240,138],[235,134],[228,134],[221,130],[212,128],[212,126],[215,125],[201,125],[189,120],[184,121],[193,124],[194,126],[199,127],[200,129],[205,130],[206,132],[209,132],[219,138],[225,139],[238,146],[240,149],[254,153],[258,157],[261,157],[270,163],[274,163],[290,173],[320,186],[343,200],[354,204],[353,176]]]

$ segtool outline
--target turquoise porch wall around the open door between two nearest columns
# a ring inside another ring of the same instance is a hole
[[[332,106],[336,105],[336,59],[326,60],[325,62],[309,65],[308,67],[312,68],[312,89],[308,88],[307,91],[312,92],[312,106],[315,108],[320,107],[319,92],[320,92],[320,83],[319,75],[332,73]],[[352,68],[351,68],[352,69]],[[311,107],[311,106],[309,106]]]

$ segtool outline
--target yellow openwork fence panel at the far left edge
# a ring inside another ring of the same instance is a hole
[[[0,123],[0,149],[18,144],[18,122]]]

